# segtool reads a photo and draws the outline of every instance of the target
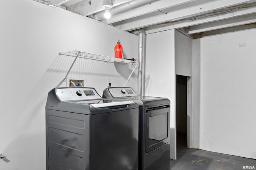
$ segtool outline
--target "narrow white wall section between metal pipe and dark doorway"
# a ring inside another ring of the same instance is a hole
[[[170,158],[176,159],[174,29],[146,35],[145,96],[170,100]]]

